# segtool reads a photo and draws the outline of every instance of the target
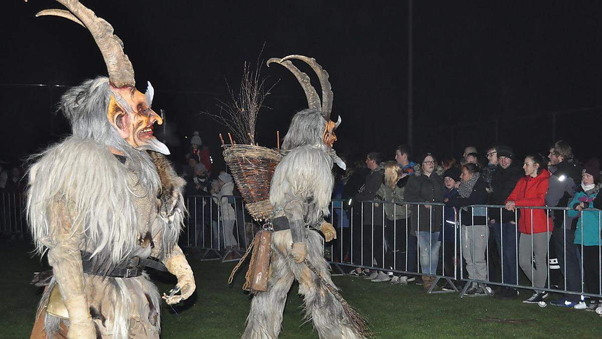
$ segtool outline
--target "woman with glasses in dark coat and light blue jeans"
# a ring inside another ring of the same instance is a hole
[[[424,274],[424,290],[430,290],[435,283],[439,261],[439,232],[441,232],[443,209],[441,205],[429,203],[442,203],[444,195],[443,180],[435,173],[437,162],[431,153],[420,157],[420,169],[411,176],[406,185],[405,198],[408,202],[423,203],[410,205],[412,233],[418,236],[418,253],[420,267]],[[424,204],[426,203],[426,204]]]

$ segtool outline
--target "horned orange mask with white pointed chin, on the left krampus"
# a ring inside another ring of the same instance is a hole
[[[134,68],[123,52],[123,42],[113,34],[113,27],[76,0],[57,0],[68,10],[43,10],[36,16],[60,16],[87,28],[94,37],[107,64],[111,97],[107,119],[129,145],[138,150],[169,154],[169,149],[153,135],[154,124],[163,124],[151,109],[154,89],[148,83],[146,93],[135,88]]]

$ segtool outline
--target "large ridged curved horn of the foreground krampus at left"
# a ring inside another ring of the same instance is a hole
[[[134,86],[134,68],[128,55],[123,52],[123,42],[113,34],[113,26],[77,0],[57,0],[57,2],[67,7],[70,13],[64,10],[46,10],[40,11],[36,16],[61,16],[84,25],[101,50],[111,84],[115,87]]]

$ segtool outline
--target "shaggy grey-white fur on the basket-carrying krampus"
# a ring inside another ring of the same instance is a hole
[[[325,125],[326,121],[317,110],[302,110],[293,117],[282,144],[287,152],[276,166],[270,186],[270,204],[274,207],[275,217],[285,215],[289,223],[305,220],[306,226],[321,224],[329,213],[334,183],[332,154],[336,156],[336,153],[322,141]],[[317,268],[320,276],[332,284],[321,236],[314,230],[303,233],[306,236],[303,239],[307,245],[306,259]],[[282,311],[294,279],[299,281],[306,318],[313,321],[320,338],[362,338],[353,331],[337,298],[307,265],[294,262],[292,244],[291,230],[274,232],[268,290],[253,297],[243,338],[278,338]]]

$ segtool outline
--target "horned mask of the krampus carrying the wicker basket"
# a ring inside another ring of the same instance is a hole
[[[311,85],[311,81],[309,77],[304,72],[300,71],[291,60],[297,59],[302,60],[307,63],[311,69],[314,70],[315,74],[318,75],[318,79],[320,80],[320,87],[322,89],[322,100],[320,101],[320,97],[318,93],[315,91],[314,86]],[[335,135],[335,129],[341,124],[341,116],[338,116],[337,122],[332,121],[330,118],[330,114],[332,112],[332,87],[330,87],[330,81],[328,80],[328,72],[323,69],[320,64],[318,64],[314,58],[306,57],[304,55],[288,55],[282,59],[272,58],[267,60],[267,66],[270,66],[270,63],[278,63],[279,65],[287,68],[299,81],[303,91],[305,92],[305,97],[307,98],[307,103],[310,109],[318,110],[322,113],[324,120],[326,120],[326,126],[324,127],[323,133],[323,141],[324,144],[328,147],[332,148],[332,145],[335,141],[337,141],[337,135]]]

